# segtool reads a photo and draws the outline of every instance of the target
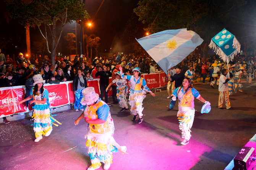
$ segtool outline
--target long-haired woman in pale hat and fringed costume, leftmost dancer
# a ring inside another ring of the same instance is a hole
[[[45,80],[43,80],[40,74],[34,75],[33,80],[34,87],[32,87],[30,91],[30,96],[18,102],[18,105],[33,99],[29,102],[29,104],[34,103],[32,118],[34,118],[34,132],[36,136],[35,142],[38,142],[43,138],[42,135],[45,135],[47,137],[51,134],[53,124],[52,122],[56,120],[52,118],[52,115],[50,113],[50,103],[48,98],[49,93],[43,85],[43,83],[45,83]],[[58,123],[61,124],[60,122]],[[54,125],[57,126],[56,124]]]

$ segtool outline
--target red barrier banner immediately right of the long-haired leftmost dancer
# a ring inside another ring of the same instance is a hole
[[[66,84],[44,86],[49,92],[49,102],[53,107],[68,104],[68,91]]]

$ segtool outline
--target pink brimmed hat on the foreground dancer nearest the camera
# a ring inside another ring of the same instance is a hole
[[[82,94],[83,99],[80,102],[82,105],[91,105],[99,99],[99,94],[95,92],[94,87],[86,87],[83,89]]]

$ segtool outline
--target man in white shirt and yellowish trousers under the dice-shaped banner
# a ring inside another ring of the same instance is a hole
[[[229,73],[230,77],[232,78],[232,73]],[[229,95],[228,95],[228,75],[227,75],[227,69],[222,70],[222,75],[220,75],[219,79],[219,102],[218,102],[218,108],[222,109],[222,105],[225,100],[225,105],[227,109],[230,109],[230,101],[229,101]]]

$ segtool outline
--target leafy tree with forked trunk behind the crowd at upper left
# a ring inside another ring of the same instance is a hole
[[[26,20],[30,25],[37,25],[41,35],[46,41],[47,51],[55,63],[56,48],[62,35],[63,26],[73,20],[89,17],[80,0],[7,0],[12,17]],[[60,28],[57,28],[57,25]],[[42,30],[44,29],[44,31]],[[51,50],[49,49],[48,35],[51,37]],[[58,33],[57,33],[58,32]]]

